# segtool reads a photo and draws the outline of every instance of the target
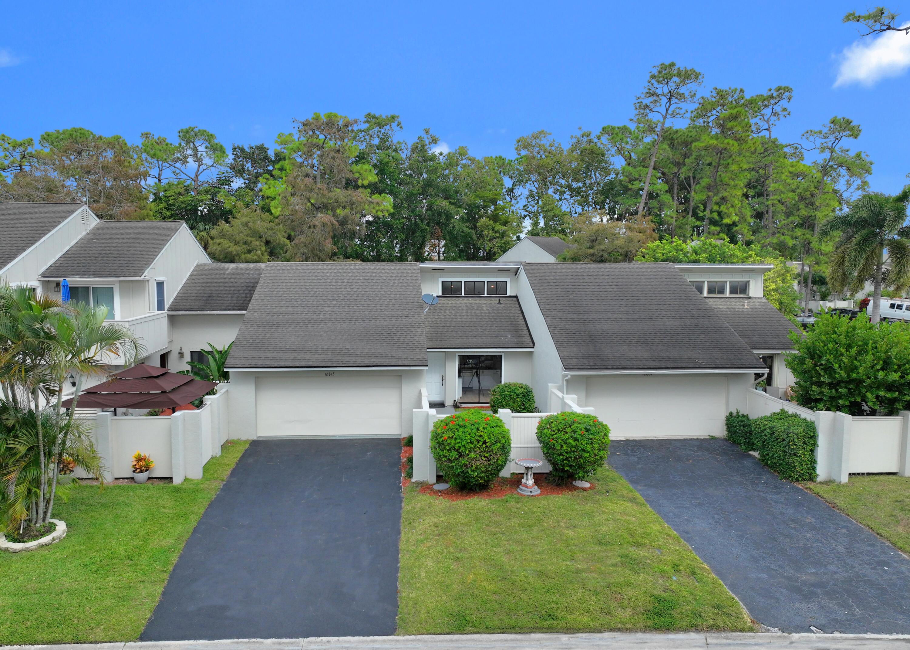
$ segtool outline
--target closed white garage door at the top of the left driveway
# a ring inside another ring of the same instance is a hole
[[[269,436],[401,435],[398,375],[258,377],[256,426]]]

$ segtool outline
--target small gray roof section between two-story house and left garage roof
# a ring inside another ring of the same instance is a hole
[[[197,264],[168,311],[246,311],[265,264]]]

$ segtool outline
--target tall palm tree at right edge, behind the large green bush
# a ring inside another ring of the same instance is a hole
[[[871,192],[857,198],[850,209],[824,222],[822,235],[840,232],[831,255],[828,284],[835,291],[859,291],[873,280],[872,322],[881,318],[882,287],[904,290],[910,285],[910,226],[906,225],[910,185],[892,197]],[[891,270],[883,279],[885,250]]]

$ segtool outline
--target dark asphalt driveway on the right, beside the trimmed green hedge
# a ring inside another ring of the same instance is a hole
[[[733,443],[614,441],[610,452],[763,625],[910,634],[910,560]]]

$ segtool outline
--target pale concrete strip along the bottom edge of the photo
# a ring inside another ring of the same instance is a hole
[[[157,643],[12,645],[4,650],[908,650],[910,636],[749,633],[348,636]]]

